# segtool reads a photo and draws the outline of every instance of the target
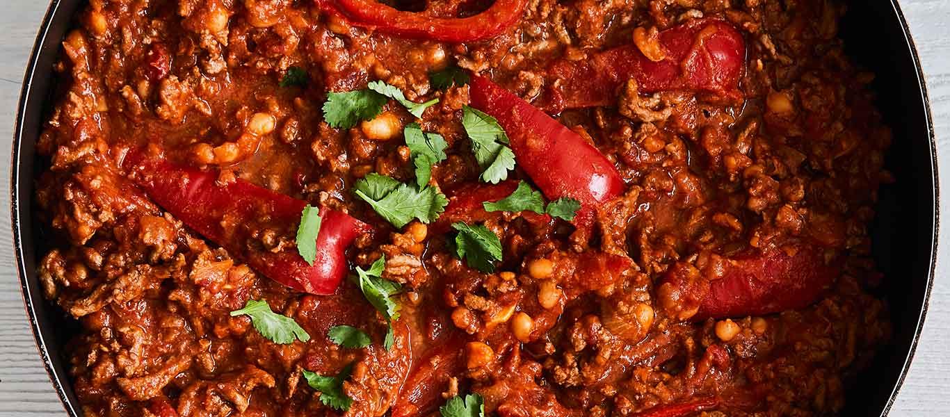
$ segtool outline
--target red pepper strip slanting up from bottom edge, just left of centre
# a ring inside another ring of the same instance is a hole
[[[392,417],[429,415],[445,403],[442,391],[448,379],[465,370],[462,354],[464,338],[458,333],[446,337],[446,341],[434,344],[433,348],[418,360],[416,368],[409,372],[399,399],[392,406]]]

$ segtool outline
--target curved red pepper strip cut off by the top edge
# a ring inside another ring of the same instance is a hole
[[[321,9],[338,12],[353,25],[397,36],[462,43],[498,36],[522,17],[527,0],[496,0],[471,17],[432,17],[390,8],[376,0],[316,0]]]

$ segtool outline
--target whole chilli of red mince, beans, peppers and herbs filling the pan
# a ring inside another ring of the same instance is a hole
[[[839,412],[891,333],[843,13],[89,1],[36,180],[85,415]]]

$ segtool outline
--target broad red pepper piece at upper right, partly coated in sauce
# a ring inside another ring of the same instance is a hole
[[[742,34],[731,24],[715,19],[694,19],[659,32],[666,57],[653,62],[636,45],[599,52],[579,61],[560,60],[550,73],[560,83],[548,89],[542,108],[564,108],[617,103],[618,87],[634,79],[639,91],[709,92],[732,101],[742,99],[739,77],[746,61]]]

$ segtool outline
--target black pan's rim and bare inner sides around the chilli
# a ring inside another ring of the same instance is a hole
[[[17,271],[27,313],[49,378],[71,416],[81,415],[64,350],[74,321],[43,299],[36,276],[43,237],[32,219],[34,143],[48,116],[52,65],[60,41],[85,2],[53,0],[24,78],[13,138],[11,201]],[[886,276],[882,295],[894,321],[893,343],[880,351],[847,395],[844,415],[885,415],[914,355],[937,255],[937,151],[917,51],[896,0],[853,1],[841,24],[847,54],[877,74],[878,107],[894,132],[886,158],[898,182],[880,191],[872,224],[874,256]]]

